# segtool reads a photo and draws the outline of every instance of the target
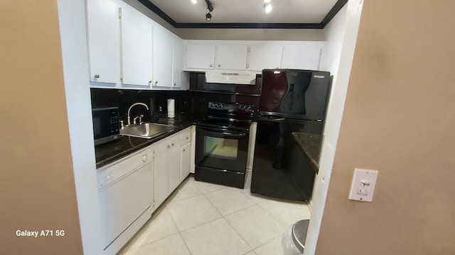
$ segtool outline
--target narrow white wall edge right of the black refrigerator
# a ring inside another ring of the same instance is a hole
[[[323,134],[319,174],[314,182],[311,200],[313,206],[304,255],[314,254],[316,251],[346,91],[348,90],[350,67],[353,61],[362,6],[363,0],[348,1],[348,4],[338,12],[324,29],[328,46],[326,54],[321,60],[321,69],[326,69],[333,74],[333,84]]]

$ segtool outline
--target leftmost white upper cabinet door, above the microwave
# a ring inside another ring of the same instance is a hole
[[[117,0],[87,0],[90,81],[120,81],[120,30]]]

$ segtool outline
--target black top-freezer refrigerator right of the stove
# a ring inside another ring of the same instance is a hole
[[[292,132],[321,135],[330,73],[264,69],[252,169],[251,192],[309,200],[315,171]]]

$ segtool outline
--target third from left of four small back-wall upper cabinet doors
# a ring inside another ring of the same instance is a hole
[[[248,69],[262,71],[262,69],[279,68],[282,65],[282,55],[283,46],[251,45]]]

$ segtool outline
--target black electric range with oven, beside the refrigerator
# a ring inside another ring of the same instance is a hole
[[[244,188],[254,112],[252,105],[208,103],[207,118],[196,123],[196,181]]]

